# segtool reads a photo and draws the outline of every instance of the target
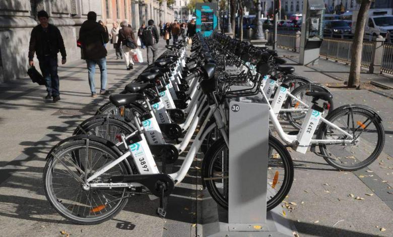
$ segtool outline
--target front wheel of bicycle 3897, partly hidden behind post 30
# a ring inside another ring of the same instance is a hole
[[[279,140],[269,136],[271,156],[268,163],[267,209],[272,210],[287,196],[293,182],[292,158]],[[213,197],[222,207],[228,208],[229,150],[223,138],[208,150],[202,167],[203,180]]]

